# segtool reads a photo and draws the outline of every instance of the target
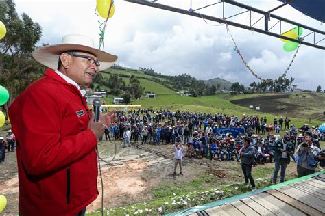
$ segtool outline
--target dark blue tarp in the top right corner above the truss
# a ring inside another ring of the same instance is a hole
[[[285,3],[288,0],[278,1]],[[321,21],[322,23],[325,21],[325,0],[294,0],[289,5],[302,12],[302,14],[317,19],[317,21]]]

